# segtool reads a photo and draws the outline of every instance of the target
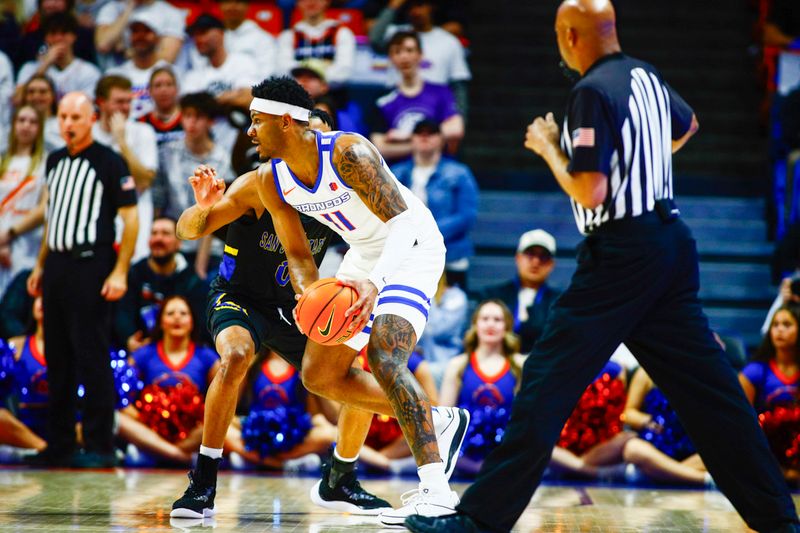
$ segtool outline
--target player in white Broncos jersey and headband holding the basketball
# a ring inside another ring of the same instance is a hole
[[[270,78],[253,87],[253,96],[248,135],[261,159],[271,159],[256,171],[255,182],[286,252],[295,292],[302,293],[319,277],[302,212],[350,245],[337,278],[359,295],[347,311],[355,315],[349,340],[333,347],[307,342],[303,384],[320,396],[397,417],[417,461],[420,485],[404,495],[400,508],[380,515],[384,525],[402,526],[412,514],[452,513],[458,496],[448,479],[469,414],[431,408],[407,367],[444,269],[444,241],[436,222],[369,141],[309,129],[313,102],[293,79]],[[224,184],[217,180],[217,187]],[[364,346],[374,378],[353,366]],[[368,430],[367,423],[364,437]],[[316,490],[312,499],[318,498]]]

